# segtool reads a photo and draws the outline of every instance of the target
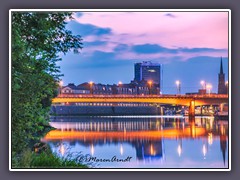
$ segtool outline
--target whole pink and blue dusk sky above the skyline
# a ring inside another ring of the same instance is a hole
[[[64,85],[130,83],[134,63],[162,64],[163,93],[197,92],[200,81],[217,92],[220,60],[228,80],[228,12],[75,12],[66,28],[83,49],[60,55]]]

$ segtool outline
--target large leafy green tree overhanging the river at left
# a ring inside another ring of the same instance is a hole
[[[21,153],[48,123],[56,95],[60,53],[79,53],[82,38],[67,30],[67,12],[12,12],[12,152]]]

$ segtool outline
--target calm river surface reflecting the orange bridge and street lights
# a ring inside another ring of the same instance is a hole
[[[54,117],[50,124],[56,130],[42,141],[53,152],[63,157],[89,155],[93,158],[89,162],[99,168],[228,168],[227,121],[210,117]]]

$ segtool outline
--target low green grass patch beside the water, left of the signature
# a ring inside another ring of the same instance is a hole
[[[57,157],[50,150],[35,153],[31,150],[24,151],[21,155],[12,158],[12,168],[87,168],[75,160]]]

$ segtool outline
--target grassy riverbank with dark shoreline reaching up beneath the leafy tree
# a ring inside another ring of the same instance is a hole
[[[44,129],[37,132],[36,136],[44,137],[49,131],[54,130],[49,124],[43,125]],[[11,166],[13,169],[56,169],[56,168],[88,168],[77,158],[69,159],[57,156],[50,147],[39,140],[31,141],[29,148],[21,154],[12,154]]]

